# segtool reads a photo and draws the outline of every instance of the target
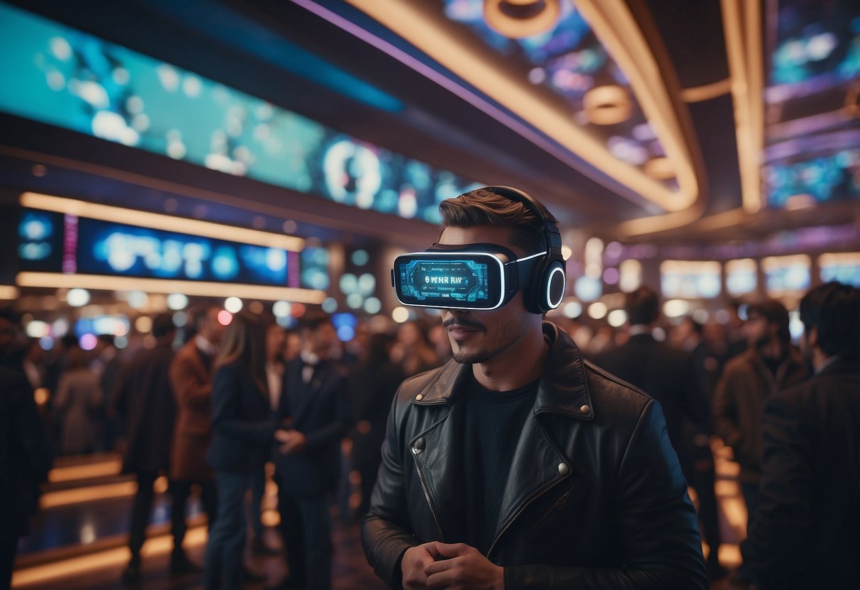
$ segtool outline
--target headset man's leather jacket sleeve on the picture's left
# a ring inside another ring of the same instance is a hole
[[[403,448],[397,415],[401,394],[398,391],[391,404],[386,426],[385,441],[382,446],[382,464],[379,467],[377,483],[371,495],[370,509],[361,523],[361,544],[365,548],[367,562],[376,575],[389,587],[402,587],[400,561],[409,547],[418,544],[409,532],[408,507],[406,501],[406,482]]]

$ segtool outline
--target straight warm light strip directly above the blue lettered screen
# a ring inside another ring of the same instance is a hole
[[[101,221],[110,221],[117,224],[175,231],[192,236],[212,237],[228,242],[255,244],[266,248],[291,250],[292,252],[301,252],[304,249],[304,239],[300,237],[250,230],[234,225],[216,224],[200,219],[188,219],[173,215],[163,215],[162,213],[137,211],[123,207],[101,205],[101,203],[66,199],[50,194],[27,192],[21,195],[20,201],[22,206],[31,209],[100,219]]]

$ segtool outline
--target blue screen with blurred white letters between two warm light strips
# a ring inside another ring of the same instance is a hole
[[[284,249],[34,210],[23,212],[18,234],[24,271],[318,286],[304,280],[299,253]]]

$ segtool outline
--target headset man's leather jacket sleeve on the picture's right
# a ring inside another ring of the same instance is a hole
[[[615,491],[624,568],[505,568],[506,590],[708,587],[696,512],[658,403],[648,402],[618,470]]]

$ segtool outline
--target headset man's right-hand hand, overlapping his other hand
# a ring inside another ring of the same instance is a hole
[[[430,563],[424,569],[427,588],[504,590],[505,568],[490,562],[474,547],[464,543],[436,543],[435,550],[448,559]]]

